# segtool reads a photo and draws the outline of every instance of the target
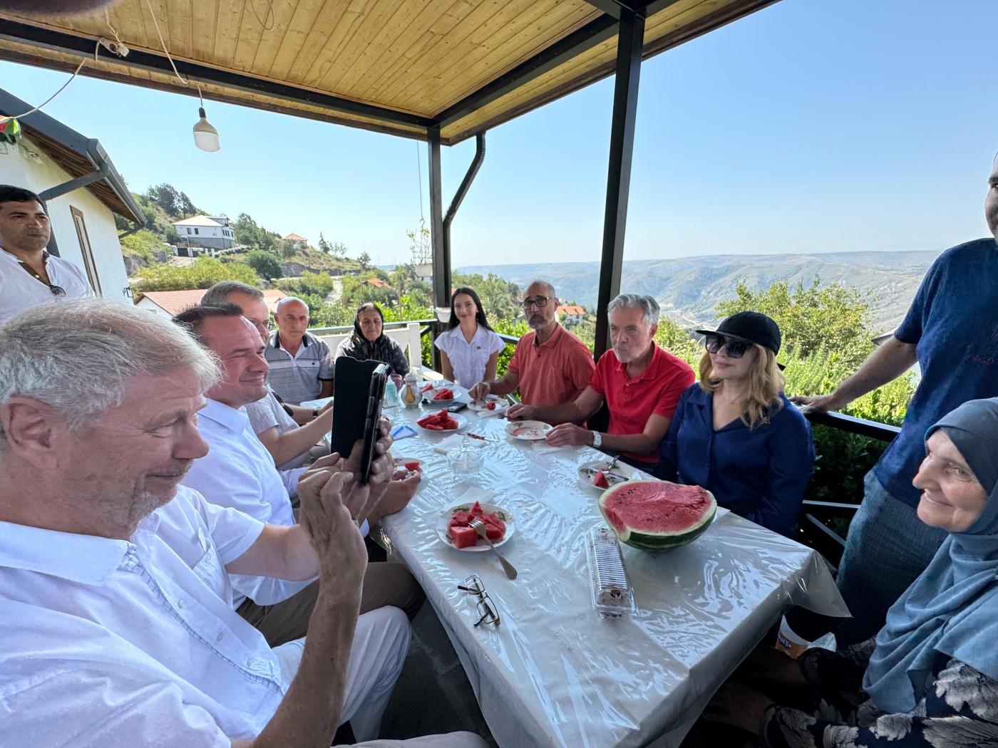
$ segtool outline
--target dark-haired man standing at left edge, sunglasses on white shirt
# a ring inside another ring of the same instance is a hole
[[[0,185],[0,324],[39,304],[93,297],[79,267],[45,250],[51,234],[37,194]]]

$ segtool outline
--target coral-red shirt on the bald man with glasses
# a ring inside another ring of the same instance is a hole
[[[543,345],[537,344],[536,332],[520,338],[507,370],[520,377],[525,404],[561,405],[579,397],[595,368],[588,346],[558,325]]]

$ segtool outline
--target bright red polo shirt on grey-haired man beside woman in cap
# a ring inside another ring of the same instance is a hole
[[[697,377],[690,365],[681,358],[652,343],[655,352],[645,371],[634,379],[627,375],[627,365],[617,360],[613,349],[596,364],[589,386],[603,395],[610,409],[608,434],[640,434],[650,416],[672,418],[680,395]],[[659,452],[647,455],[626,454],[642,463],[657,463]]]

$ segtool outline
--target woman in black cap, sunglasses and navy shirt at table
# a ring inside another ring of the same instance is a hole
[[[806,419],[783,395],[779,327],[746,311],[697,332],[707,348],[700,381],[680,398],[655,475],[703,486],[722,507],[790,537],[814,447]]]

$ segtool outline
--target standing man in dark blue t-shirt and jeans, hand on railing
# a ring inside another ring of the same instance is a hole
[[[879,630],[946,538],[915,513],[922,492],[911,476],[925,457],[926,430],[968,400],[998,396],[998,157],[984,216],[992,235],[939,255],[904,320],[855,374],[828,395],[791,398],[805,413],[840,410],[916,363],[921,370],[901,433],[866,474],[849,526],[837,582],[853,617],[836,632],[840,645]]]

